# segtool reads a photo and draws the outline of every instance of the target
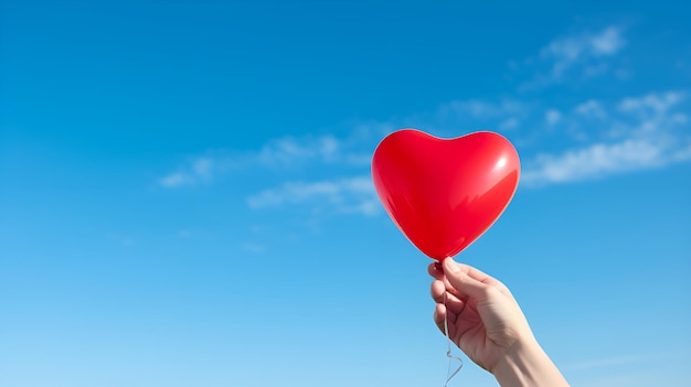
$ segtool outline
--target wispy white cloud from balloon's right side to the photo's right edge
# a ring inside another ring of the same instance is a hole
[[[604,139],[559,154],[538,154],[528,161],[522,181],[533,186],[564,183],[690,160],[691,137],[684,130],[688,116],[678,110],[684,95],[667,92],[629,97],[612,112],[595,100],[580,104],[568,117],[571,125],[592,125],[583,116],[597,117],[603,120],[599,135]]]

